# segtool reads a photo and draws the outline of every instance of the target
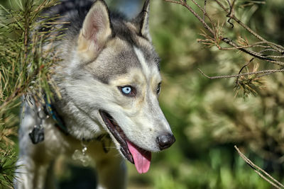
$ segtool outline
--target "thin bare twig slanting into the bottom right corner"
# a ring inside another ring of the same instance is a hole
[[[284,185],[281,184],[279,181],[277,181],[275,178],[273,178],[271,175],[269,175],[268,173],[266,173],[266,171],[264,171],[262,168],[256,166],[256,164],[253,164],[253,162],[248,159],[243,153],[241,153],[241,151],[239,150],[238,147],[234,146],[234,148],[236,149],[236,151],[238,151],[239,155],[241,156],[242,159],[244,159],[244,161],[246,161],[246,164],[249,164],[249,166],[251,166],[251,168],[253,168],[253,171],[255,171],[256,173],[258,173],[259,176],[261,176],[261,178],[263,178],[265,181],[267,181],[268,183],[270,183],[271,185],[273,185],[275,188],[284,188]],[[264,174],[264,175],[263,175]],[[267,178],[268,177],[268,178]],[[272,180],[269,180],[269,178]]]

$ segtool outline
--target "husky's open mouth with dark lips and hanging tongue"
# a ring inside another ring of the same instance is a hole
[[[138,173],[146,173],[151,164],[151,151],[146,151],[137,147],[135,144],[127,139],[124,131],[117,124],[114,118],[109,115],[109,113],[99,110],[99,114],[102,116],[102,120],[107,125],[107,128],[114,136],[117,142],[119,142],[121,148],[120,151],[126,159],[128,159],[132,164],[135,164]]]

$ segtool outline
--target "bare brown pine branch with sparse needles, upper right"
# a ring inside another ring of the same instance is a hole
[[[274,42],[270,42],[266,40],[265,38],[261,37],[258,33],[256,33],[254,30],[249,28],[248,25],[244,24],[239,18],[235,16],[235,8],[236,8],[236,1],[235,0],[226,0],[226,5],[224,5],[224,2],[221,2],[219,0],[214,1],[206,1],[204,0],[204,6],[201,6],[200,2],[197,2],[195,0],[191,0],[192,4],[189,4],[188,1],[185,0],[165,0],[173,4],[180,4],[181,6],[184,6],[187,8],[190,13],[192,13],[195,18],[197,18],[198,21],[203,25],[205,30],[202,30],[202,37],[204,39],[197,40],[198,42],[202,42],[203,45],[207,45],[207,47],[217,47],[219,50],[226,50],[226,51],[234,51],[239,50],[241,52],[244,52],[246,55],[250,55],[251,59],[258,59],[261,63],[266,64],[274,64],[276,66],[276,69],[267,69],[263,71],[251,71],[247,73],[241,73],[240,69],[239,74],[233,74],[233,75],[224,75],[224,76],[207,76],[207,74],[204,74],[200,69],[200,73],[203,76],[206,76],[208,79],[226,79],[231,77],[236,77],[236,89],[243,88],[244,91],[253,91],[255,93],[256,91],[253,88],[256,88],[256,86],[261,86],[261,82],[259,80],[257,82],[257,79],[260,79],[263,76],[267,76],[268,74],[274,74],[277,72],[283,72],[283,66],[284,66],[284,47],[282,45],[275,44]],[[217,8],[219,8],[220,13],[226,13],[225,18],[229,18],[227,20],[227,23],[231,25],[231,31],[234,32],[235,25],[240,25],[241,29],[245,30],[249,33],[253,38],[255,38],[256,42],[249,42],[248,40],[245,40],[243,36],[234,33],[236,35],[237,40],[231,40],[227,35],[227,33],[223,32],[224,25],[219,24],[219,21],[214,21],[214,16],[210,15],[207,12],[207,6],[208,4],[214,4],[217,5]],[[251,2],[252,3],[252,2]],[[253,1],[255,4],[263,4],[263,2]],[[198,11],[201,11],[201,13],[198,13]],[[234,23],[233,23],[234,22]],[[229,47],[228,47],[229,45]],[[256,76],[258,74],[258,76]],[[249,76],[255,76],[253,79]],[[242,77],[242,81],[239,82],[239,77]],[[244,77],[247,76],[247,77]]]

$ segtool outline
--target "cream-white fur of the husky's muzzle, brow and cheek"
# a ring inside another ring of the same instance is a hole
[[[118,44],[120,43],[116,40],[116,45],[110,45],[108,48],[120,47]],[[72,94],[68,97],[67,107],[64,108],[66,114],[72,115],[72,119],[67,120],[72,135],[79,139],[89,139],[104,130],[109,132],[98,112],[105,110],[116,120],[131,142],[148,151],[160,151],[156,138],[165,132],[171,133],[170,126],[160,110],[156,93],[161,81],[160,72],[155,62],[147,62],[141,49],[133,47],[133,52],[136,57],[132,58],[138,60],[138,65],[126,64],[129,65],[127,72],[111,76],[106,84],[93,76],[97,73],[109,74],[108,69],[100,69],[101,65],[105,64],[105,59],[110,56],[104,52],[88,65],[84,74],[78,78],[70,75],[70,79],[66,79],[62,84],[66,93]],[[124,96],[118,86],[133,86],[137,89],[137,95]],[[75,120],[76,124],[72,124]],[[77,125],[80,125],[80,130]],[[115,139],[114,142],[119,148]]]

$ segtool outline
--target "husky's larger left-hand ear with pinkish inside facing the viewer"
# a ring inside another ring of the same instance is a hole
[[[97,0],[84,18],[77,40],[78,54],[85,61],[96,58],[107,40],[111,37],[109,9],[103,0]]]

